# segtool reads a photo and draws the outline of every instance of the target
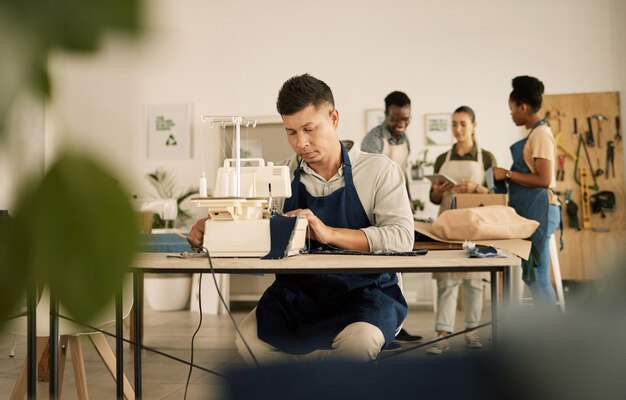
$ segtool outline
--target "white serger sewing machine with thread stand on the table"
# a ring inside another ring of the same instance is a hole
[[[203,117],[203,122],[207,118],[216,117]],[[208,197],[201,190],[201,197],[191,201],[208,209],[210,218],[204,228],[203,244],[211,257],[262,257],[271,247],[269,218],[274,211],[274,200],[291,197],[289,168],[266,164],[261,158],[240,158],[239,128],[250,121],[243,117],[228,118],[232,118],[236,130],[234,158],[224,160],[218,168],[215,197]],[[211,121],[215,122],[224,126],[223,121]],[[307,225],[306,219],[298,218],[287,247],[288,255],[296,255],[305,247]]]

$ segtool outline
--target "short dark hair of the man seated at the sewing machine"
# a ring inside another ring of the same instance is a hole
[[[309,75],[289,78],[278,92],[276,109],[280,115],[293,115],[309,105],[316,108],[328,103],[335,107],[333,92],[323,81]]]

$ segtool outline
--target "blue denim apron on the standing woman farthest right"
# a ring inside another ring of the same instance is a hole
[[[511,171],[524,174],[531,173],[530,168],[528,168],[528,165],[526,165],[524,161],[524,146],[535,128],[545,123],[545,119],[537,122],[525,139],[511,146],[511,155],[513,156]],[[535,280],[535,268],[541,261],[541,249],[545,244],[546,230],[548,228],[548,189],[530,188],[509,181],[509,205],[522,217],[539,222],[539,227],[530,237],[532,246],[528,261],[522,260],[522,279],[526,283],[532,283]]]

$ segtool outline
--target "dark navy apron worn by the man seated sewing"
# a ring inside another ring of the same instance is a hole
[[[300,182],[301,163],[291,182],[292,196],[284,211],[309,208],[324,224],[336,228],[371,226],[352,180],[348,152],[341,145],[345,186],[314,197]],[[325,247],[311,241],[311,247]],[[290,354],[332,348],[334,338],[354,322],[380,328],[393,342],[407,315],[407,304],[395,273],[277,274],[257,305],[258,337]]]

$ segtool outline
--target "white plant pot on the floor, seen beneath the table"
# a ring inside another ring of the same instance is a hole
[[[189,308],[191,275],[146,274],[146,300],[155,311],[178,311]]]

